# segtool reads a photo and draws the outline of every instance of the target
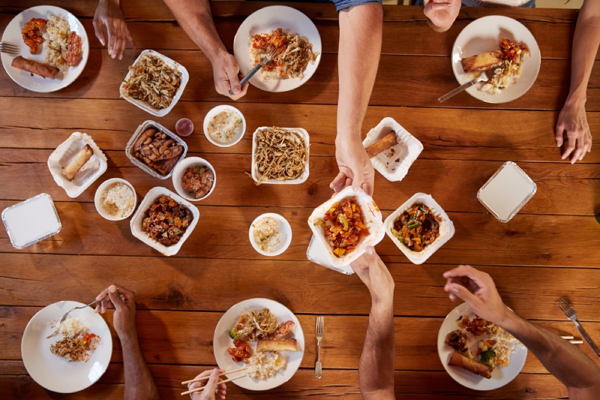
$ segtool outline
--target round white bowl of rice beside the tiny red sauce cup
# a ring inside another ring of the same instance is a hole
[[[214,107],[204,118],[204,134],[215,146],[229,147],[238,143],[246,131],[246,119],[235,107]]]

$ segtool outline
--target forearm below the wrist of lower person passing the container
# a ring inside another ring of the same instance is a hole
[[[364,400],[394,399],[394,349],[393,301],[373,302],[358,366]]]

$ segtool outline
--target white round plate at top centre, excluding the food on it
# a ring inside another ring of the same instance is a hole
[[[233,39],[233,54],[238,61],[239,70],[247,74],[254,67],[254,60],[250,55],[252,35],[267,33],[269,30],[283,28],[284,31],[299,34],[303,39],[313,44],[313,52],[319,52],[314,64],[308,63],[304,71],[304,78],[290,79],[288,76],[282,79],[269,79],[262,82],[259,72],[250,78],[250,83],[267,92],[287,92],[296,89],[313,76],[321,61],[321,37],[314,23],[300,11],[285,5],[270,5],[250,14],[239,26],[238,32]]]

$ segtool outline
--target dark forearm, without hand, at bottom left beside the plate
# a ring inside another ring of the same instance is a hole
[[[142,355],[137,332],[119,333],[125,371],[124,400],[158,400],[158,390]]]

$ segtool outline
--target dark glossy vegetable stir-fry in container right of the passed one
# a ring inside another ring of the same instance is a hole
[[[441,221],[425,204],[415,204],[400,215],[391,231],[409,249],[423,251],[440,236]]]

